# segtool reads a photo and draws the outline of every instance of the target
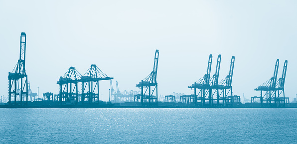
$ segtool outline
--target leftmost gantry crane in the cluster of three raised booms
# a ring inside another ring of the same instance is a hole
[[[196,81],[191,86],[188,86],[190,89],[194,89],[194,104],[196,105],[199,102],[201,102],[201,105],[205,105],[205,100],[209,100],[209,103],[211,105],[211,88],[210,88],[210,72],[211,72],[211,63],[212,63],[212,54],[209,55],[208,58],[208,64],[207,64],[207,71],[206,74],[201,77],[198,81]],[[199,90],[197,94],[197,89]],[[208,99],[206,96],[208,95]]]

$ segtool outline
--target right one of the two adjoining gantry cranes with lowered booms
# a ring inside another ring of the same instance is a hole
[[[97,101],[99,103],[99,81],[111,80],[112,77],[108,77],[104,72],[102,72],[95,64],[87,70],[84,76],[81,77],[82,82],[82,103],[87,101],[89,103],[94,103]],[[86,83],[86,84],[85,84]],[[95,84],[95,86],[94,86]],[[88,86],[87,92],[86,87]],[[97,92],[96,92],[97,90]],[[97,99],[97,100],[96,100]]]

